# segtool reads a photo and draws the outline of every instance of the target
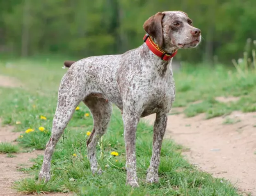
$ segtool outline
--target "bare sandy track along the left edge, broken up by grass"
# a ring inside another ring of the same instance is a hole
[[[15,78],[0,76],[0,87],[21,87],[21,83]],[[13,132],[12,126],[1,126],[0,119],[0,142],[16,143],[14,140],[18,138],[20,133]],[[16,190],[11,189],[13,182],[26,177],[33,177],[24,174],[22,171],[17,171],[19,167],[30,167],[32,162],[30,159],[36,158],[37,155],[43,154],[43,151],[32,151],[31,153],[15,153],[16,157],[8,158],[6,154],[0,154],[0,196],[25,196],[19,194]],[[73,194],[43,194],[44,196],[71,196]]]

